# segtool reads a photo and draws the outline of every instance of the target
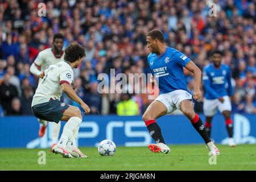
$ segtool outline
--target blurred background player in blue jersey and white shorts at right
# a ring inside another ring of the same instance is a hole
[[[232,107],[229,99],[229,96],[233,96],[234,91],[231,84],[230,68],[228,65],[221,64],[222,52],[214,51],[211,57],[212,64],[205,67],[203,72],[205,129],[210,136],[212,118],[218,109],[226,121],[229,146],[234,147],[236,143],[233,140],[233,121],[230,118]],[[228,90],[226,84],[228,84]]]

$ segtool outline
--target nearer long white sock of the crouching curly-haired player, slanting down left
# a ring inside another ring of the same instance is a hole
[[[57,144],[60,147],[66,147],[69,140],[72,139],[73,135],[76,134],[77,129],[79,129],[82,119],[79,117],[71,117],[68,119],[68,122],[65,123],[63,128],[63,133],[61,134],[59,143]]]

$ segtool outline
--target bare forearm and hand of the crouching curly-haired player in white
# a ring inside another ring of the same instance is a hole
[[[67,83],[63,83],[61,84],[61,88],[63,90],[63,92],[65,92],[67,94],[67,96],[77,102],[81,107],[82,109],[84,110],[85,114],[88,114],[90,113],[90,108],[88,105],[86,105],[84,103],[84,101],[81,100],[81,98],[79,96],[77,96],[77,94],[75,93],[75,91],[72,89],[71,85],[67,84]]]

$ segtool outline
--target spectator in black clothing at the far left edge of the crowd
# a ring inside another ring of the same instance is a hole
[[[6,73],[0,85],[0,101],[5,113],[11,113],[11,101],[15,97],[18,97],[18,90],[10,84],[10,75]]]

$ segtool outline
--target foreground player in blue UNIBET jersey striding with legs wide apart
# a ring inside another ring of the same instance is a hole
[[[195,100],[202,97],[200,69],[183,53],[167,47],[164,44],[162,31],[155,29],[148,32],[146,42],[151,52],[147,61],[154,77],[152,80],[155,80],[160,90],[159,96],[147,107],[142,117],[151,137],[156,142],[156,144],[149,144],[148,148],[152,152],[163,152],[164,154],[170,152],[170,148],[164,143],[161,129],[155,119],[180,109],[204,139],[210,153],[219,155],[220,152],[209,138],[199,115],[193,109],[192,97]],[[187,91],[183,67],[195,76],[193,96]]]

